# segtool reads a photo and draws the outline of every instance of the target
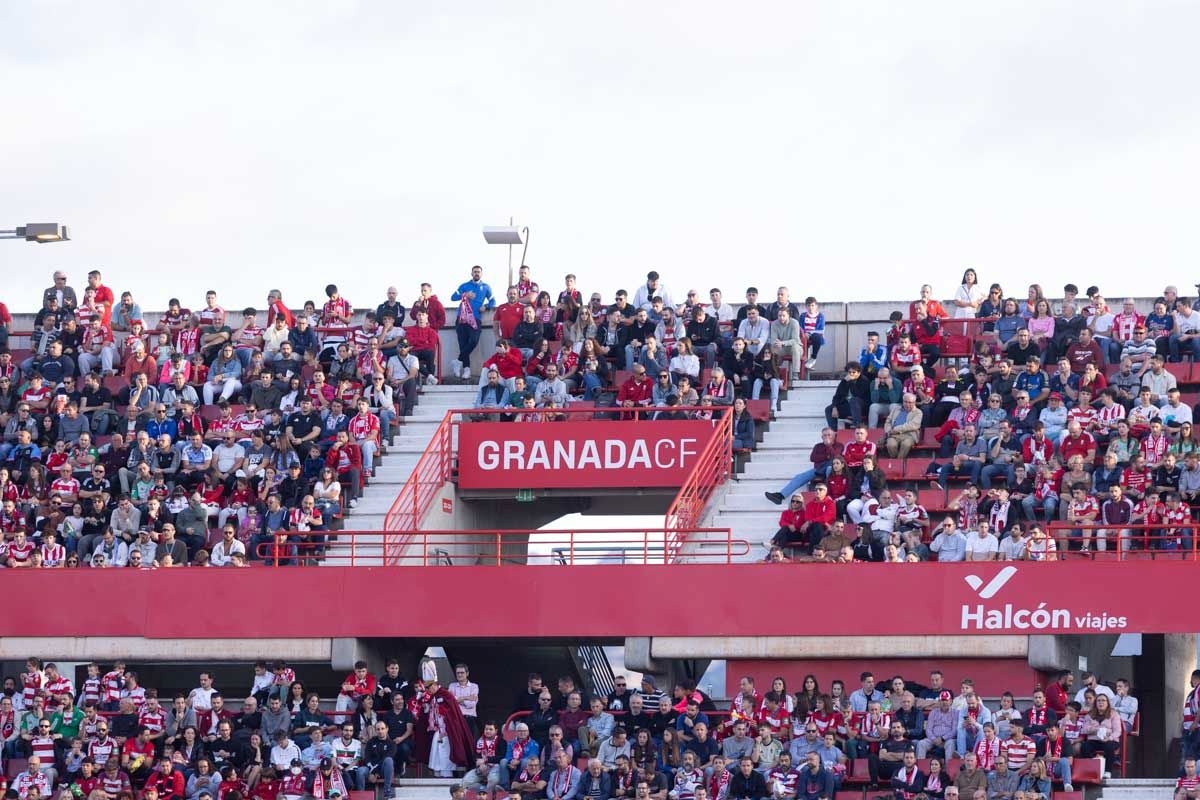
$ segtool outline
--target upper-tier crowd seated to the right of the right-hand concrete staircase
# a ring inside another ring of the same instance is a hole
[[[1200,438],[1180,362],[1200,353],[1200,300],[1166,287],[1142,315],[1096,287],[1063,295],[1051,306],[1031,285],[1006,299],[967,270],[953,313],[926,285],[884,333],[868,332],[811,468],[767,493],[788,501],[769,558],[1193,552]],[[947,359],[942,327],[964,320],[973,347]]]

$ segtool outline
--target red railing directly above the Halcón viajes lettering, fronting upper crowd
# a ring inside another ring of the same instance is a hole
[[[1050,536],[1058,546],[1058,560],[1067,558],[1091,558],[1093,560],[1110,559],[1116,561],[1163,560],[1196,561],[1200,560],[1200,523],[1187,525],[1105,525],[1102,523],[1073,523],[1062,519],[1048,525]],[[1084,535],[1075,535],[1081,531]],[[1105,549],[1099,551],[1099,533],[1105,533]],[[1086,540],[1085,540],[1086,536]],[[1192,541],[1187,541],[1190,539]],[[1078,545],[1086,541],[1088,552],[1063,552],[1063,543]]]

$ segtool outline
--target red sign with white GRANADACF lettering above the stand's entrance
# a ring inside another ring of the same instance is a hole
[[[713,423],[697,420],[464,422],[464,489],[584,489],[682,486]]]

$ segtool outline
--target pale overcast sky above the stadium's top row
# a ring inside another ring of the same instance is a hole
[[[446,299],[533,229],[546,288],[980,281],[1184,291],[1194,2],[0,4],[0,300],[100,267],[144,308],[329,281]],[[1189,55],[1190,54],[1190,55]],[[1190,77],[1189,77],[1190,76]],[[1148,281],[1148,284],[1142,284]]]

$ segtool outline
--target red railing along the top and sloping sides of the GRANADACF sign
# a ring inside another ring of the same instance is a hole
[[[656,407],[643,407],[636,411],[614,408],[556,408],[559,416],[587,415],[587,419],[618,423],[654,425],[650,415],[661,410]],[[713,415],[714,435],[701,450],[696,465],[689,474],[674,501],[667,511],[664,528],[667,531],[667,553],[673,558],[683,540],[678,534],[684,529],[696,529],[703,516],[704,506],[728,475],[733,458],[733,409],[730,407],[676,407],[676,411],[703,411]],[[384,564],[395,565],[401,554],[412,542],[413,535],[420,530],[421,521],[428,513],[438,493],[454,475],[457,456],[455,428],[462,423],[460,417],[480,413],[498,414],[499,411],[481,411],[480,409],[451,409],[442,419],[442,423],[430,439],[428,446],[416,464],[408,481],[401,487],[396,500],[391,504],[384,519]],[[619,414],[620,420],[606,420],[605,416]],[[628,419],[625,419],[628,415]],[[523,422],[520,425],[540,425]],[[671,560],[670,558],[667,560]]]

